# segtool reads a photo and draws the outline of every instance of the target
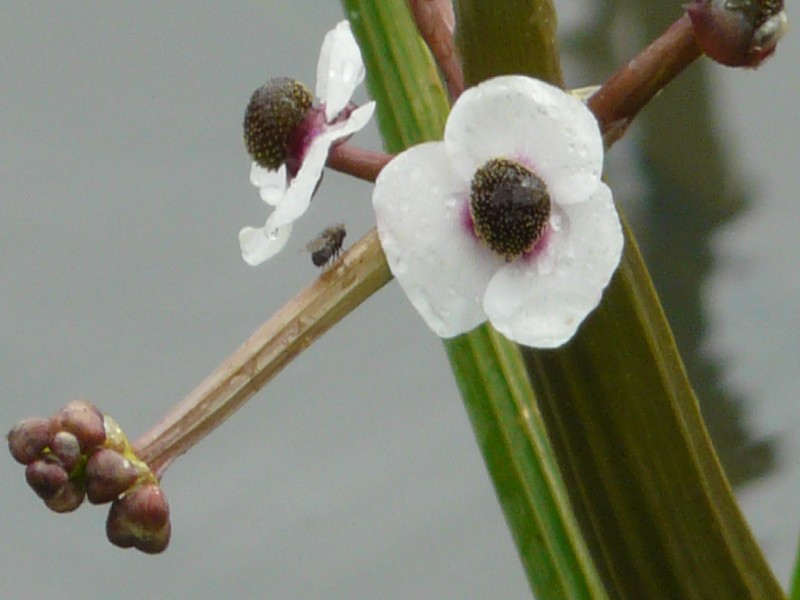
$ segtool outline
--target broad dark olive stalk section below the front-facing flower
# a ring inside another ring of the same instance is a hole
[[[783,598],[705,430],[629,231],[579,336],[529,351],[534,388],[606,584],[620,598]]]

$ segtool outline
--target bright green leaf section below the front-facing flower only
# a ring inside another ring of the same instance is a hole
[[[571,512],[519,349],[487,325],[445,346],[536,597],[606,598]]]

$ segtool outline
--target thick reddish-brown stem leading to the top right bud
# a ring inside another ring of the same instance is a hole
[[[606,145],[619,139],[642,107],[701,54],[692,23],[684,14],[614,73],[588,102]]]

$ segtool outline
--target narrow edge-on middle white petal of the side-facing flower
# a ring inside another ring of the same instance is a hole
[[[347,137],[367,124],[375,110],[375,103],[369,102],[354,110],[347,120],[328,126],[319,134],[306,151],[303,164],[297,176],[289,184],[289,188],[267,219],[266,228],[269,231],[283,227],[297,220],[308,210],[311,197],[317,188],[317,182],[322,177],[322,169],[328,160],[328,152],[333,142]]]

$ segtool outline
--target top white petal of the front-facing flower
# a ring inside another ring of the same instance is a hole
[[[558,204],[586,200],[603,168],[603,140],[589,109],[521,75],[495,77],[464,92],[447,119],[444,142],[463,177],[491,158],[510,158],[540,176]]]

